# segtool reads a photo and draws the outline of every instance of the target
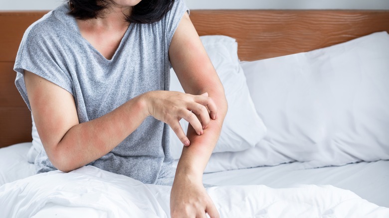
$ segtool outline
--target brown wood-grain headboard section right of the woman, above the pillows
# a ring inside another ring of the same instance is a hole
[[[194,10],[199,35],[228,35],[240,60],[278,57],[389,31],[389,11]]]

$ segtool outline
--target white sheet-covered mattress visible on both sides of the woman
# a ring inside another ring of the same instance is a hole
[[[0,185],[35,174],[27,162],[31,143],[0,149]],[[216,186],[266,185],[292,188],[301,185],[332,185],[354,192],[378,206],[389,208],[389,161],[360,162],[340,167],[302,169],[299,162],[272,167],[230,170],[203,175],[203,182]]]

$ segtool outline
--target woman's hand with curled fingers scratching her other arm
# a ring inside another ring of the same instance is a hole
[[[216,118],[216,105],[207,93],[190,95],[172,91],[152,91],[144,95],[149,114],[170,125],[186,146],[191,142],[180,125],[181,118],[187,120],[198,135],[207,127],[209,117]]]

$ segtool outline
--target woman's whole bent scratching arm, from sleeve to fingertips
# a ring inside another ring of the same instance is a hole
[[[206,96],[153,91],[99,118],[79,123],[74,98],[69,92],[28,71],[24,71],[24,82],[43,147],[51,163],[63,172],[104,156],[149,115],[168,123],[185,143],[189,140],[179,120],[186,119],[197,134],[202,134],[209,120],[200,123],[194,113],[206,117],[209,114],[205,106],[216,110],[213,101]]]

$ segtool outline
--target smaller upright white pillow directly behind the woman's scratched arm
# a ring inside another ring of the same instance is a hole
[[[205,50],[224,86],[228,112],[224,119],[220,138],[213,152],[242,151],[252,148],[266,133],[266,127],[256,113],[246,78],[239,65],[237,43],[228,36],[201,36]],[[170,90],[184,92],[176,73],[171,70]],[[184,131],[188,122],[180,121]],[[183,144],[170,129],[172,154],[179,159]]]

